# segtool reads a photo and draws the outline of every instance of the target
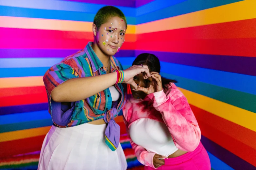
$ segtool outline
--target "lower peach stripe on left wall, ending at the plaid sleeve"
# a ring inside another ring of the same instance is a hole
[[[0,78],[0,88],[44,86],[43,76]]]

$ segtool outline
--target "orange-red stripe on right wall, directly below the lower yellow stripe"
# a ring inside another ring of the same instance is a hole
[[[212,113],[190,105],[197,121],[204,122],[213,128],[229,135],[230,137],[248,145],[251,149],[256,149],[256,132],[233,123],[229,120],[218,117]]]

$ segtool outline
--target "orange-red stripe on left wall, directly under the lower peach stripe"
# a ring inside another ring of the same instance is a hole
[[[38,94],[38,93],[44,93],[44,92],[46,92],[44,86],[3,88],[3,89],[0,89],[0,97],[18,96],[18,95],[25,95],[25,94]]]

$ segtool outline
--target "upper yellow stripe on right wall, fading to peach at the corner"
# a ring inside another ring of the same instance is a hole
[[[256,1],[246,0],[136,26],[136,34],[256,18]]]

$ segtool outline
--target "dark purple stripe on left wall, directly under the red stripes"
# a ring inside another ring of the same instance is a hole
[[[48,103],[0,107],[0,115],[48,110]]]

